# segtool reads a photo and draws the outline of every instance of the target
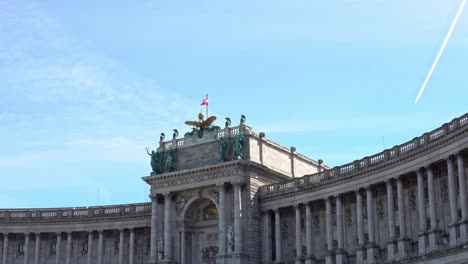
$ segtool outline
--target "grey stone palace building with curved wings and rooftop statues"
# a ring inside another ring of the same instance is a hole
[[[214,119],[147,150],[150,202],[0,209],[1,263],[468,263],[468,113],[334,168]]]

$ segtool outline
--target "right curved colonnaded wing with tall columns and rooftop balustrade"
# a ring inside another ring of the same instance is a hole
[[[448,262],[468,244],[467,156],[465,114],[371,157],[263,186],[262,259]]]

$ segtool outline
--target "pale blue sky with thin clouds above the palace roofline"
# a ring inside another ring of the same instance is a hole
[[[3,0],[0,208],[148,201],[205,93],[329,166],[419,136],[467,111],[466,10],[414,104],[460,3]]]

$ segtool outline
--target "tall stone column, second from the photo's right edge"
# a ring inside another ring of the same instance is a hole
[[[450,245],[457,245],[457,227],[458,227],[458,206],[457,206],[457,189],[455,182],[455,173],[453,170],[453,157],[447,158],[447,174],[448,174],[448,187],[449,187],[449,201],[450,201]]]

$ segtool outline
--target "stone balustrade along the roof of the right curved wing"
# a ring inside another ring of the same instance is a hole
[[[260,188],[260,196],[267,197],[280,192],[287,192],[306,186],[314,186],[331,179],[356,173],[363,169],[372,169],[380,166],[384,162],[398,162],[404,159],[404,156],[417,152],[425,147],[431,147],[441,140],[450,137],[458,131],[466,130],[468,127],[468,113],[453,119],[450,123],[444,124],[431,132],[425,133],[420,137],[414,138],[408,142],[397,145],[391,149],[386,149],[380,153],[361,160],[356,160],[342,166],[337,166],[329,170],[305,175],[303,180],[293,179],[289,182],[273,183]]]

